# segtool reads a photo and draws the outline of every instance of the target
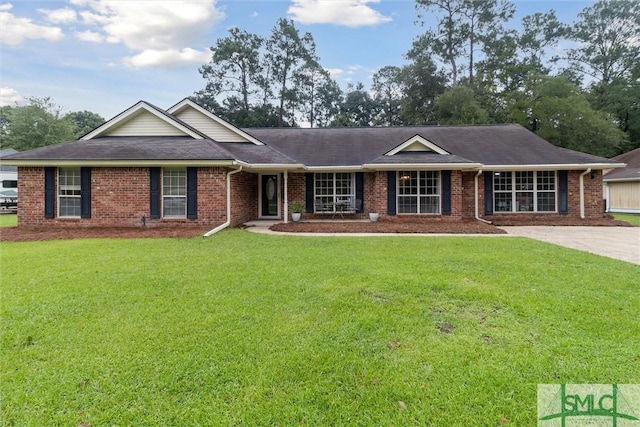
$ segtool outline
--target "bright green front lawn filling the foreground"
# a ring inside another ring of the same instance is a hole
[[[536,424],[640,382],[640,266],[508,237],[2,243],[0,424]]]

